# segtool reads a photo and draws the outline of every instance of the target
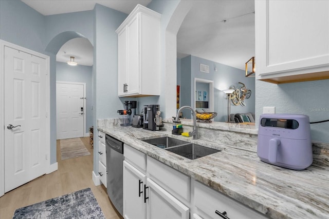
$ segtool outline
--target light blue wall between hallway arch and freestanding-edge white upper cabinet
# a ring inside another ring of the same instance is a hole
[[[94,12],[94,118],[118,118],[117,110],[122,103],[118,97],[118,35],[115,30],[127,14],[98,4]],[[96,119],[94,127],[97,127]],[[97,150],[98,142],[94,142],[95,173],[98,173]]]

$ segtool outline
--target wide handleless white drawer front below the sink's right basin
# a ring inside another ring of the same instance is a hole
[[[186,201],[190,201],[190,177],[155,160],[147,158],[148,173],[150,178],[161,187],[169,191],[173,196],[180,196]]]

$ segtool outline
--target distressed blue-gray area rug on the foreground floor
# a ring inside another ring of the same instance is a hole
[[[105,218],[90,188],[16,209],[18,218]]]

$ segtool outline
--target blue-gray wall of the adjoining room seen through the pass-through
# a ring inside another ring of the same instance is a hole
[[[214,111],[217,116],[216,122],[227,121],[227,98],[223,90],[228,89],[231,85],[239,87],[239,82],[244,83],[251,90],[252,95],[245,99],[245,107],[231,104],[231,113],[255,112],[255,78],[245,77],[245,71],[233,68],[220,63],[215,63],[204,58],[196,56],[187,56],[181,59],[181,90],[182,104],[188,105],[194,101],[194,78],[203,78],[214,81]],[[200,72],[200,64],[209,66],[209,73]],[[217,68],[217,71],[215,71]],[[189,113],[188,113],[189,114]],[[186,113],[184,116],[188,117]]]

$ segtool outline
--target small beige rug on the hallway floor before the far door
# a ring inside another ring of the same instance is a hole
[[[62,160],[90,155],[80,137],[60,140]]]

